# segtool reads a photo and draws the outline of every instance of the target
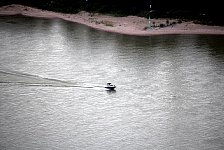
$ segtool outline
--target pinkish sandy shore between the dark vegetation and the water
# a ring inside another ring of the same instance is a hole
[[[223,26],[208,26],[194,24],[192,21],[177,23],[178,20],[169,19],[169,23],[175,23],[165,27],[148,26],[148,19],[137,16],[113,17],[98,13],[79,12],[77,14],[63,14],[46,10],[40,10],[22,5],[8,5],[0,7],[0,15],[24,15],[41,18],[60,18],[67,21],[77,22],[89,27],[127,35],[150,36],[160,34],[217,34],[224,35]],[[167,19],[152,19],[153,25],[166,25]]]

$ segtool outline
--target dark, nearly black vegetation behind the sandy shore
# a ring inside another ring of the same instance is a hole
[[[22,4],[64,13],[86,10],[115,16],[148,17],[150,14],[153,18],[175,18],[194,20],[201,24],[224,25],[222,16],[224,9],[220,0],[210,2],[202,0],[7,0],[0,2],[0,5],[8,4]]]

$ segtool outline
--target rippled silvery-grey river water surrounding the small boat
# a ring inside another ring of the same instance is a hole
[[[223,91],[224,36],[0,17],[1,150],[221,150]]]

